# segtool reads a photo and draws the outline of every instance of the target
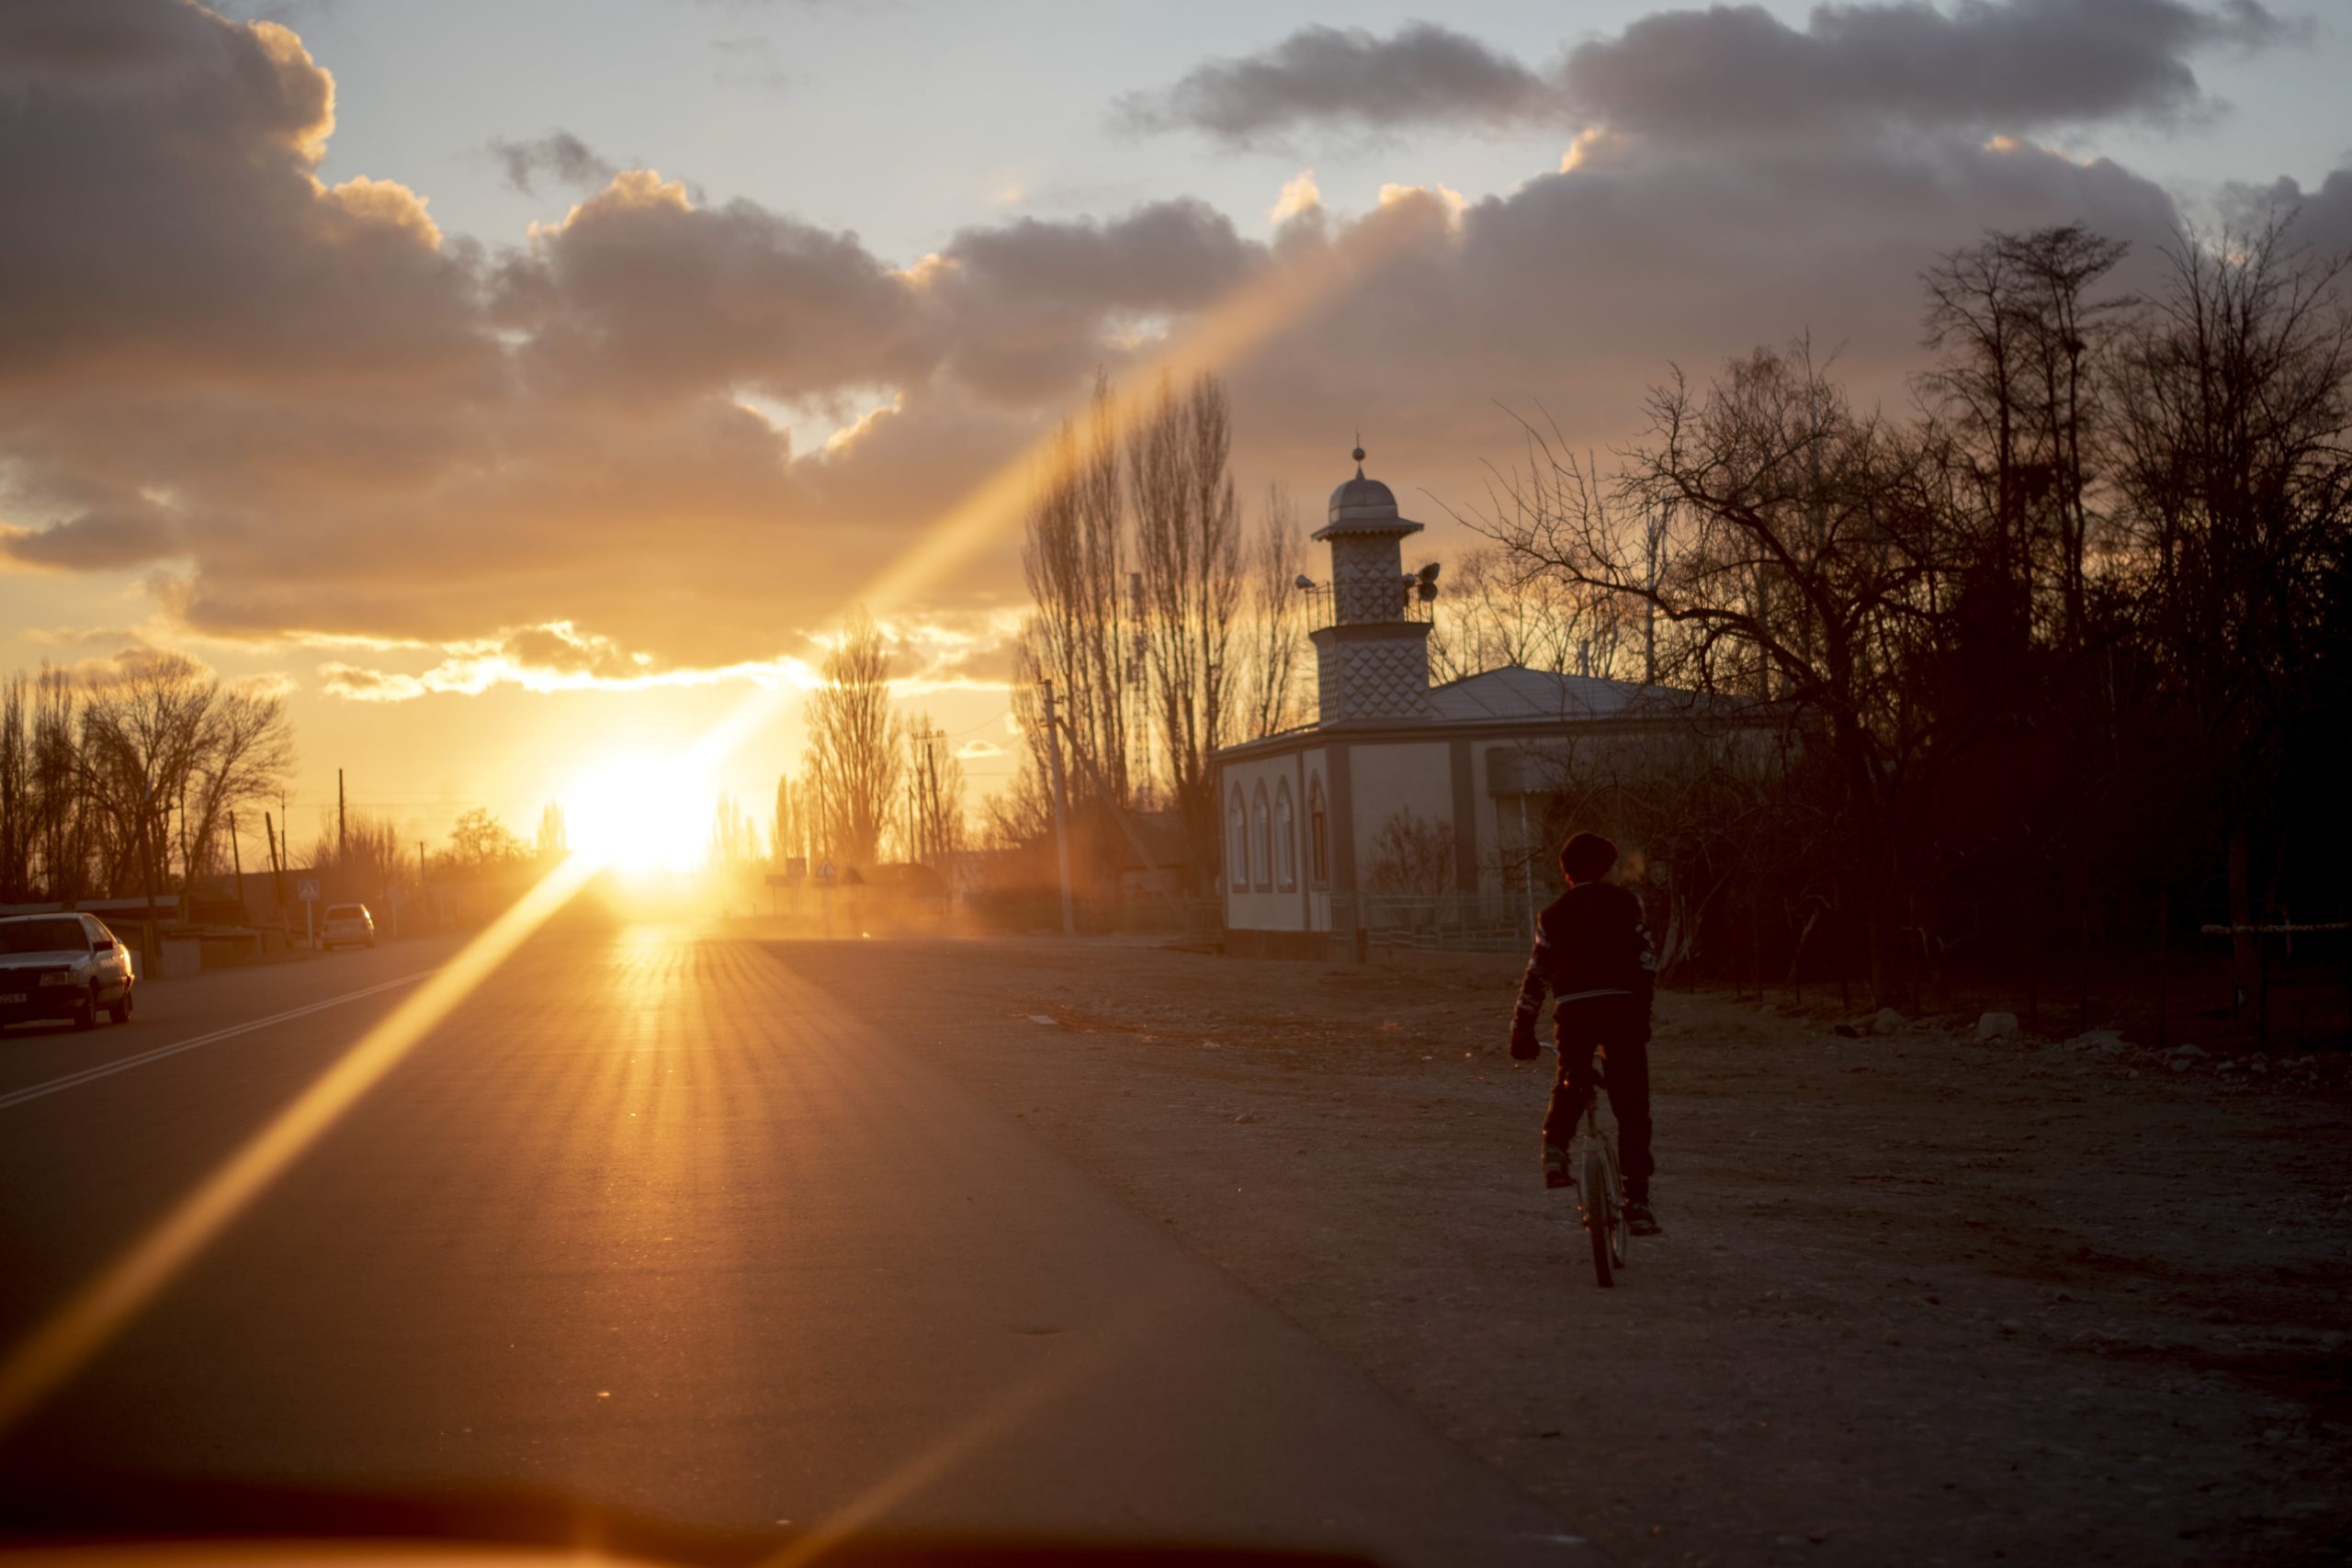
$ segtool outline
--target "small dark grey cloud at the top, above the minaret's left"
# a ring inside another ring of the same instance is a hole
[[[1216,59],[1174,87],[1127,94],[1115,118],[1138,132],[1185,127],[1249,146],[1303,127],[1501,125],[1555,108],[1552,85],[1526,66],[1409,21],[1395,38],[1305,26],[1263,54]]]

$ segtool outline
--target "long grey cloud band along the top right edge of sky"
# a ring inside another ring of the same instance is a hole
[[[1672,139],[1912,129],[2183,125],[2213,110],[2190,59],[2298,28],[2258,0],[1924,0],[1665,9],[1534,68],[1432,24],[1392,38],[1308,26],[1275,47],[1127,94],[1115,122],[1228,146],[1296,132],[1390,134],[1531,122]]]

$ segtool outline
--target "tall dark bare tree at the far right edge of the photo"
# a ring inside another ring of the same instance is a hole
[[[2343,717],[2317,719],[2314,696],[2331,625],[2343,637],[2352,522],[2347,259],[2310,254],[2291,221],[2166,252],[2110,397],[2143,635],[2178,712],[2166,733],[2206,778],[2237,926],[2288,860],[2298,726]],[[2251,938],[2237,961],[2244,983]]]

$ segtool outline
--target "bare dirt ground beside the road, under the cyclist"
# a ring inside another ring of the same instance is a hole
[[[2340,1053],[1663,994],[1665,1234],[1599,1291],[1515,961],[781,952],[1609,1559],[2352,1559]]]

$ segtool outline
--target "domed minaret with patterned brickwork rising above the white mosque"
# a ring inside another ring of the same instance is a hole
[[[1430,717],[1430,628],[1409,621],[1404,536],[1421,524],[1397,515],[1397,498],[1364,477],[1331,491],[1331,625],[1312,632],[1322,724]]]

